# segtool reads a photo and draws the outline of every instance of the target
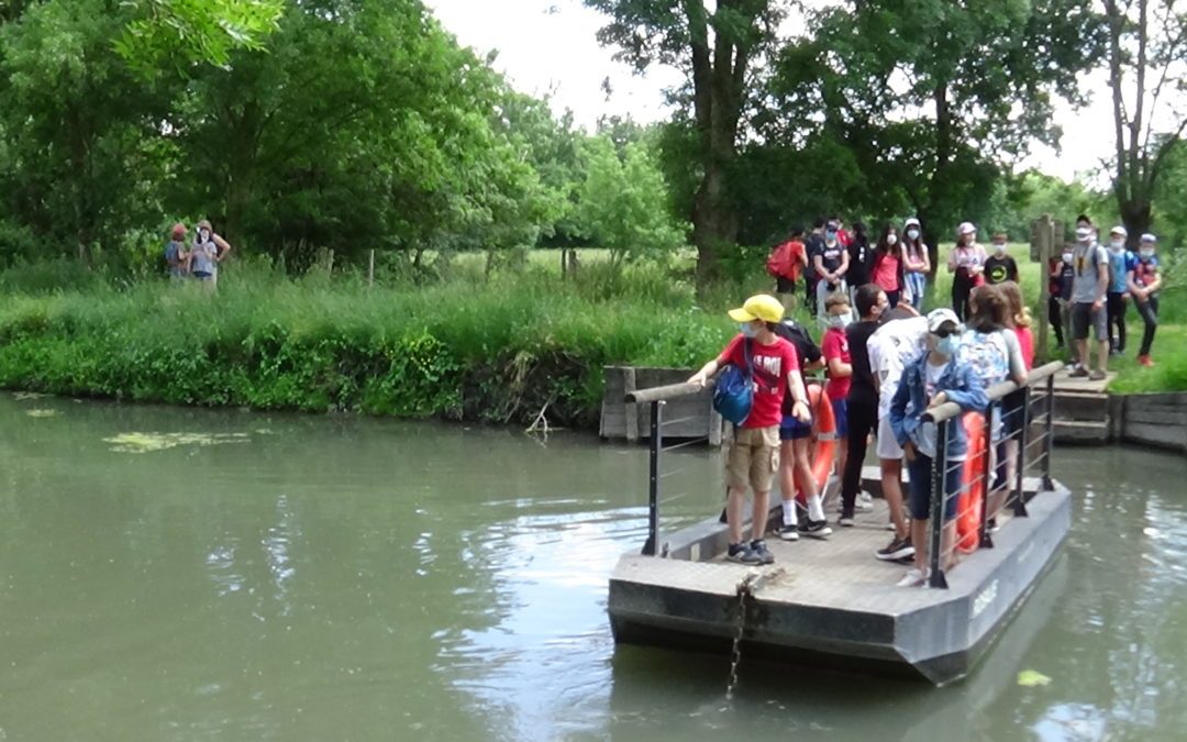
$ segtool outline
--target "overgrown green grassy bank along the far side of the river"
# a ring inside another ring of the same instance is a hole
[[[1014,249],[1036,300],[1039,266],[1024,246]],[[495,423],[528,423],[545,411],[553,426],[592,427],[603,366],[694,367],[729,340],[724,310],[770,290],[761,262],[698,300],[691,254],[622,272],[601,256],[585,252],[576,280],[560,278],[556,253],[538,253],[489,279],[481,260],[466,258],[443,283],[375,287],[339,275],[292,280],[239,262],[214,296],[193,285],[114,287],[89,278],[46,291],[49,279],[9,274],[0,277],[6,286],[32,292],[0,302],[0,386]],[[947,304],[950,281],[941,271],[928,306]],[[1115,360],[1117,391],[1187,389],[1183,299],[1181,288],[1164,294],[1155,368]],[[1141,323],[1134,312],[1130,319],[1136,350]]]

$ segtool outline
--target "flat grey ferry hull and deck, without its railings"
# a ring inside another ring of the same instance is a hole
[[[963,677],[1034,586],[1071,525],[1071,493],[1033,493],[1028,518],[1003,518],[994,547],[963,556],[948,589],[899,588],[906,566],[880,562],[887,508],[827,539],[767,543],[775,564],[725,562],[716,519],[661,534],[667,558],[624,554],[608,610],[621,642],[725,651],[738,630],[740,585],[750,581],[744,641],[793,661],[910,672],[942,684]],[[830,520],[834,520],[830,513]]]

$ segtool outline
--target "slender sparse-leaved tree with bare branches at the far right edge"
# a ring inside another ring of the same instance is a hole
[[[1130,247],[1149,232],[1167,157],[1187,128],[1187,12],[1173,0],[1104,0],[1112,93],[1112,191]],[[1160,108],[1160,104],[1163,108]]]

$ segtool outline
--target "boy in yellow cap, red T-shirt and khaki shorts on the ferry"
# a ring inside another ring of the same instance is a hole
[[[807,392],[799,375],[795,347],[775,335],[783,318],[779,299],[758,294],[741,309],[730,311],[741,332],[712,361],[688,379],[704,386],[710,376],[728,363],[748,372],[753,368],[754,401],[750,414],[735,429],[726,458],[729,500],[725,520],[730,529],[726,558],[743,564],[772,564],[775,558],[763,541],[770,509],[770,487],[779,470],[779,425],[782,421],[783,394],[791,389],[795,400],[792,414],[802,423],[811,420]],[[742,516],[747,487],[754,490],[754,518],[750,540],[742,538]]]

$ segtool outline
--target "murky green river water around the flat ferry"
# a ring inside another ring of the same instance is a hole
[[[1068,543],[964,683],[744,658],[726,702],[724,658],[610,636],[641,448],[8,393],[0,418],[4,741],[1187,734],[1182,456],[1056,450]],[[715,457],[675,458],[665,527],[721,505]]]

